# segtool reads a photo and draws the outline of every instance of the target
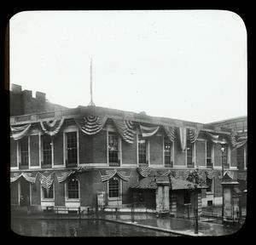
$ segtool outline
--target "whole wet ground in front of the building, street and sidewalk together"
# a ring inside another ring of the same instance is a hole
[[[22,214],[12,219],[12,229],[27,236],[225,236],[239,230],[234,225],[198,222],[195,234],[194,219],[172,218],[155,214],[98,213],[90,215]],[[24,218],[26,219],[24,221]],[[134,222],[131,222],[134,221]],[[106,225],[107,224],[107,225]],[[165,231],[165,232],[163,232]]]

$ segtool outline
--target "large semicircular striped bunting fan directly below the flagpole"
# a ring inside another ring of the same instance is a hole
[[[75,122],[79,129],[88,135],[97,134],[105,125],[108,117],[88,116],[83,118],[75,118]]]

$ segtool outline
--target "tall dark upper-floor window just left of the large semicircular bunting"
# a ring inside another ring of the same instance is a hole
[[[78,162],[77,132],[66,133],[67,139],[67,165]]]

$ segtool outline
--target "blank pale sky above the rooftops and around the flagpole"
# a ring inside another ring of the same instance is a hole
[[[25,11],[10,20],[10,83],[74,108],[215,122],[247,116],[247,31],[224,10]]]

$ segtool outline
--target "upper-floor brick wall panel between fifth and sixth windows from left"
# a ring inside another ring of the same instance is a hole
[[[154,135],[150,137],[150,164],[163,165],[163,137]]]

